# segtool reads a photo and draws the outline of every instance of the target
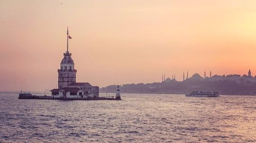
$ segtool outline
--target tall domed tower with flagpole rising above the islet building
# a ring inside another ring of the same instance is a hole
[[[58,69],[58,89],[69,87],[69,84],[76,82],[76,70],[74,61],[69,53],[69,29],[67,30],[67,51],[63,53],[64,57],[60,63],[60,69]]]

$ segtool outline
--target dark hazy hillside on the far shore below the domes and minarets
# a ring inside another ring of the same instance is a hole
[[[184,81],[167,78],[163,82],[123,84],[121,93],[187,94],[191,91],[218,91],[221,95],[256,95],[256,78],[219,76],[203,78],[192,76]],[[116,85],[101,88],[102,93],[115,93]]]

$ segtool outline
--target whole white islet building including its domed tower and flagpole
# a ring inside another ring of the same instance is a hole
[[[74,61],[69,53],[69,30],[67,31],[67,51],[58,69],[58,89],[51,90],[52,97],[56,98],[96,98],[99,97],[99,87],[94,87],[88,82],[76,82]]]

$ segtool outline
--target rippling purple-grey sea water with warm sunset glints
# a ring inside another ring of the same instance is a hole
[[[256,142],[256,96],[122,99],[19,100],[2,92],[0,142]]]

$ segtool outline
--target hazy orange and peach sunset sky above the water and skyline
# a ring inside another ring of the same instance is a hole
[[[67,49],[77,82],[159,82],[204,71],[256,75],[256,1],[0,1],[0,90],[57,86]]]

